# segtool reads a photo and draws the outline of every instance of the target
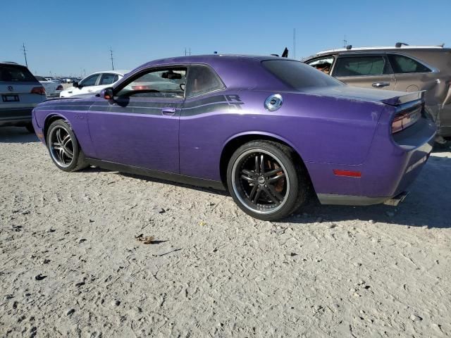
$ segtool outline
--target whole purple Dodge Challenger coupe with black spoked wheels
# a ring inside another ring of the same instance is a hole
[[[146,63],[95,96],[33,111],[55,165],[227,189],[284,218],[322,204],[399,201],[432,150],[421,92],[349,87],[299,61],[185,56]]]

